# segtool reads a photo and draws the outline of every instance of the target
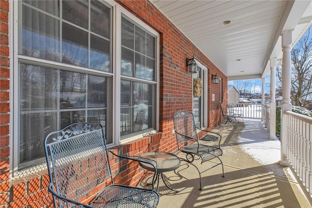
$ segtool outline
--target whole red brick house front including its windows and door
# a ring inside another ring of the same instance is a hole
[[[176,111],[196,111],[207,130],[221,120],[211,96],[226,106],[227,77],[152,1],[1,0],[0,9],[0,207],[51,207],[43,140],[69,123],[100,122],[110,148],[138,156],[176,153]],[[197,106],[195,76],[205,86]],[[141,109],[144,128],[123,130]],[[117,184],[143,175],[124,171]]]

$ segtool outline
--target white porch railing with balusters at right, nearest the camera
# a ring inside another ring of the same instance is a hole
[[[312,117],[290,111],[285,114],[286,157],[303,185],[312,194]]]

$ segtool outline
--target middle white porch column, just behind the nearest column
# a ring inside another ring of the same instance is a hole
[[[276,58],[270,58],[271,79],[270,79],[270,140],[276,137],[276,103],[275,103],[275,69]]]

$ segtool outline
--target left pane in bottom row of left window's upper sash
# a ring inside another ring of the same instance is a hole
[[[59,61],[59,21],[22,6],[20,53]]]

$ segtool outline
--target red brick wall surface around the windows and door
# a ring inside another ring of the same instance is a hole
[[[153,27],[160,34],[160,100],[159,131],[150,137],[116,147],[122,153],[140,155],[146,151],[176,152],[176,138],[171,134],[174,129],[172,114],[179,110],[192,111],[192,75],[188,74],[186,57],[195,56],[208,71],[208,129],[213,129],[221,119],[219,103],[219,85],[214,85],[211,75],[217,74],[223,79],[223,100],[227,100],[227,77],[205,57],[176,27],[168,21],[150,1],[117,1],[138,18]],[[52,207],[52,197],[47,190],[49,178],[46,171],[27,175],[20,179],[9,178],[9,125],[10,125],[10,70],[9,64],[9,1],[0,0],[0,208],[8,207]],[[12,50],[12,49],[11,49]],[[212,102],[215,94],[215,102]],[[226,104],[223,102],[223,108]],[[112,162],[113,171],[120,165]],[[116,183],[136,185],[143,171],[124,170],[115,178]],[[130,177],[131,176],[131,177]],[[132,177],[134,176],[134,177]]]

